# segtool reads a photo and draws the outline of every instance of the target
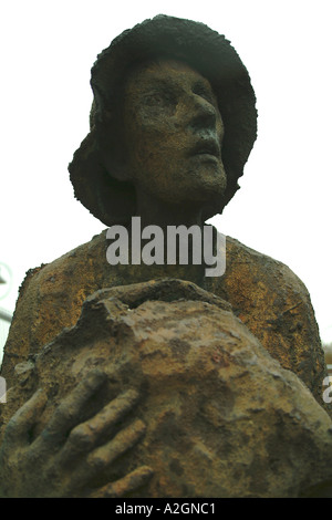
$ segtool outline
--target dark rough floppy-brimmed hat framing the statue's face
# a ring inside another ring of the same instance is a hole
[[[224,35],[190,20],[159,14],[124,31],[98,54],[92,67],[94,94],[91,132],[75,152],[69,166],[75,197],[106,226],[125,222],[135,215],[132,184],[112,177],[102,158],[101,142],[105,127],[113,136],[120,132],[120,96],[127,72],[134,65],[156,58],[184,61],[211,84],[225,125],[222,162],[227,188],[218,205],[204,208],[205,220],[232,198],[238,178],[257,136],[256,97],[247,69]],[[110,139],[111,155],[118,144]],[[110,169],[110,168],[108,168]]]

